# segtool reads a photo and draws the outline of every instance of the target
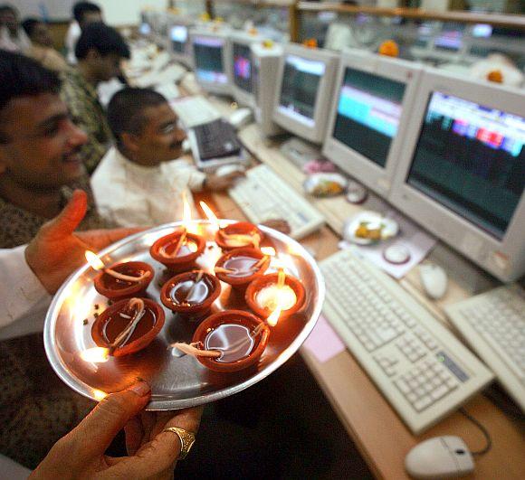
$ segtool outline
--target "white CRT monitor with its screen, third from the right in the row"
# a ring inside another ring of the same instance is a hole
[[[282,128],[320,144],[325,136],[329,103],[339,55],[297,44],[283,46],[273,119]]]

